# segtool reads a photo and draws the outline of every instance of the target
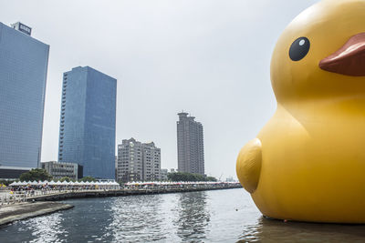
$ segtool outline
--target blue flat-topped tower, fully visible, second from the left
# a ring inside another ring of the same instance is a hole
[[[64,73],[58,161],[78,163],[84,176],[115,177],[117,80],[89,67]]]

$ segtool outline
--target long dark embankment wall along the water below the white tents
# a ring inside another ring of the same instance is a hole
[[[131,196],[131,195],[149,195],[149,194],[164,194],[164,193],[177,193],[177,192],[191,192],[191,191],[204,191],[204,190],[222,190],[239,188],[239,186],[231,187],[190,187],[190,188],[148,188],[148,189],[119,189],[119,190],[69,190],[61,191],[55,194],[40,195],[36,197],[27,197],[27,201],[56,201],[64,200],[68,198],[83,198],[83,197],[120,197],[120,196]]]

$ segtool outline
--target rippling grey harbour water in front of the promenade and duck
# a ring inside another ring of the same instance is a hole
[[[244,189],[73,199],[0,228],[0,242],[364,242],[365,226],[262,218]]]

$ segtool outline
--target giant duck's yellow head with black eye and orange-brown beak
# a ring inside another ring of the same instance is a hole
[[[277,102],[365,95],[365,0],[323,0],[298,15],[276,43]]]

